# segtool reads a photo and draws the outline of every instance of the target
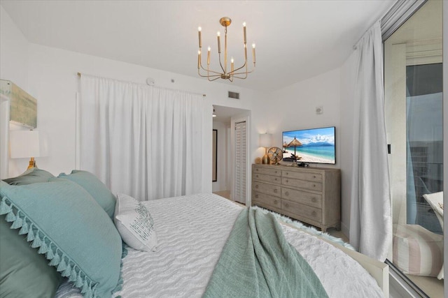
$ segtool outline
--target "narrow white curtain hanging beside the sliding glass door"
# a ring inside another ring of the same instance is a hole
[[[384,261],[392,223],[379,22],[361,38],[356,52],[350,243],[360,253]]]

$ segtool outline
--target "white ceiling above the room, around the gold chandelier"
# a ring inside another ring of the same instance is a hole
[[[232,19],[228,43],[235,64],[242,62],[246,22],[248,45],[256,43],[257,66],[246,80],[232,84],[262,91],[340,66],[394,2],[0,0],[31,43],[193,77],[197,27],[202,27],[203,51],[212,48],[211,67],[216,68],[216,31],[221,36],[224,31],[218,20]]]

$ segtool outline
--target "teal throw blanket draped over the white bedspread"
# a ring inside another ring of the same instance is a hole
[[[203,297],[328,297],[272,214],[241,211]]]

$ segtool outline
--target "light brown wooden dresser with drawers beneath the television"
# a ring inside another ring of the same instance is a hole
[[[252,165],[252,205],[309,223],[341,225],[341,172],[322,167]]]

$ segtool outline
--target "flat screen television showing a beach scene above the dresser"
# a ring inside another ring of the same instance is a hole
[[[283,161],[336,163],[335,126],[283,131]]]

